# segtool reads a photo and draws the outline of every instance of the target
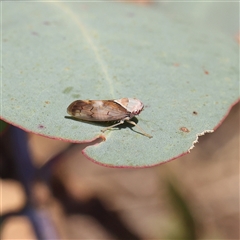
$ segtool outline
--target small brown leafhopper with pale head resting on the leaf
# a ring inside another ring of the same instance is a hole
[[[76,100],[72,102],[67,112],[69,115],[93,122],[117,122],[102,129],[105,132],[124,122],[128,122],[141,130],[141,133],[149,138],[151,135],[145,133],[135,122],[130,121],[143,110],[143,103],[137,98],[121,98],[115,100]]]

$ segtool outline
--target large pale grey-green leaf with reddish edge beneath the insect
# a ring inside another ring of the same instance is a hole
[[[162,6],[2,2],[1,118],[84,142],[103,126],[66,118],[72,101],[136,97],[145,104],[138,125],[153,138],[124,124],[84,153],[132,167],[186,153],[239,97],[238,45],[197,21],[171,18]]]

